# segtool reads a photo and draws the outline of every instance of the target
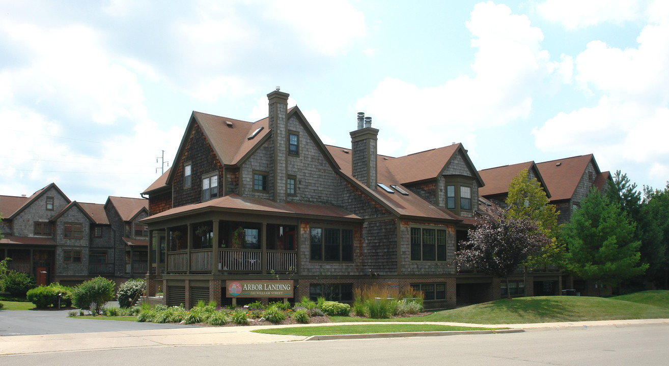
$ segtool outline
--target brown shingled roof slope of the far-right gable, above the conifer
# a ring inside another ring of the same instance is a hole
[[[551,201],[571,199],[589,162],[593,163],[595,173],[599,174],[593,154],[537,163],[541,176],[551,190]]]

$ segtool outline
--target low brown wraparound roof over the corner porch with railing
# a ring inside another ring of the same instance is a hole
[[[266,198],[242,197],[238,194],[215,198],[213,200],[179,206],[163,211],[159,214],[142,219],[142,222],[155,222],[164,218],[181,216],[183,214],[195,214],[207,210],[221,210],[231,212],[248,212],[260,214],[287,214],[294,216],[324,216],[330,218],[347,218],[362,220],[360,216],[352,214],[343,208],[336,206],[325,206],[320,204],[306,204],[286,202],[279,203]]]

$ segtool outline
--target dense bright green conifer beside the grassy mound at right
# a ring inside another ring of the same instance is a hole
[[[583,279],[610,286],[642,275],[648,264],[638,265],[641,241],[634,240],[635,226],[617,202],[592,188],[562,229],[567,269]]]

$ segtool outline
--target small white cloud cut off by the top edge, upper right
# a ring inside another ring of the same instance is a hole
[[[547,0],[537,5],[537,10],[545,19],[574,30],[637,19],[639,5],[636,0]]]

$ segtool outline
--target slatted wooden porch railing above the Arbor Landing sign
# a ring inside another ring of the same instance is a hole
[[[217,250],[217,260],[213,260],[213,249],[181,250],[167,253],[169,274],[176,273],[268,273],[288,272],[297,264],[295,250],[229,249]],[[213,264],[216,264],[212,270]]]

